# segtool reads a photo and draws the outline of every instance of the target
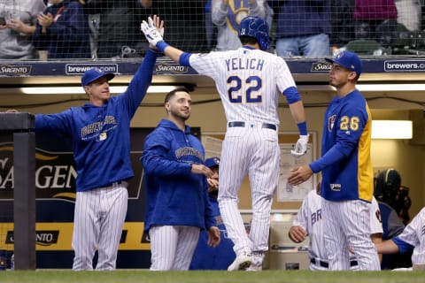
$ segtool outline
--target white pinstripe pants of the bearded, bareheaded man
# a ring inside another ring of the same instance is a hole
[[[152,226],[151,271],[189,270],[199,232],[195,226]]]

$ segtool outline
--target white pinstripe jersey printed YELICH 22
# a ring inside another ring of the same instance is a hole
[[[228,121],[279,125],[279,95],[296,87],[282,57],[262,50],[192,54],[189,63],[197,73],[215,81]]]

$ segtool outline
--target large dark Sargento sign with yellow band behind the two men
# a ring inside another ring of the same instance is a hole
[[[143,233],[146,199],[143,142],[153,128],[131,128],[129,152],[135,177],[128,180],[128,211],[122,228],[117,268],[149,268],[151,245]],[[192,127],[200,137],[200,129]],[[99,172],[101,174],[102,172]],[[0,133],[0,249],[14,249],[13,189],[19,178],[13,166],[12,134]],[[35,250],[37,268],[73,266],[73,210],[77,171],[72,141],[35,134]],[[131,259],[131,260],[130,260]]]

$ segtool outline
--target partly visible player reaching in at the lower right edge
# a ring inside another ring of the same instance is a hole
[[[375,245],[378,253],[405,253],[413,250],[412,264],[425,264],[425,207],[405,227],[403,233]]]

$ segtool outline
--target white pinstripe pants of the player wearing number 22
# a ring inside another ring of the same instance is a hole
[[[235,253],[268,249],[270,211],[279,180],[277,132],[261,127],[229,127],[221,149],[219,207]],[[251,231],[247,235],[238,210],[238,193],[249,174],[252,198]]]

